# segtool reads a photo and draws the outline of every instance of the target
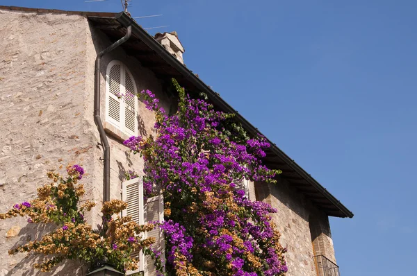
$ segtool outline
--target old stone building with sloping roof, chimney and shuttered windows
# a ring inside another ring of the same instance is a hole
[[[130,135],[153,134],[154,114],[140,101],[119,101],[112,94],[112,80],[130,91],[152,90],[170,110],[175,95],[166,88],[170,78],[177,78],[187,89],[204,92],[219,110],[235,112],[183,65],[184,49],[176,33],[152,37],[124,12],[0,6],[0,23],[0,212],[33,198],[36,188],[47,181],[47,171],[63,171],[67,164],[82,164],[87,171],[85,198],[96,202],[121,198],[124,173],[133,164],[138,172],[143,168],[142,159],[130,155],[122,141]],[[95,87],[97,54],[124,37],[129,26],[129,40],[101,58]],[[96,120],[103,122],[111,154],[108,191],[104,189],[104,150],[93,116],[98,114],[95,89],[101,90],[97,102],[101,114]],[[236,118],[252,135],[258,133],[240,114]],[[273,218],[281,243],[288,248],[287,275],[338,275],[328,217],[352,218],[352,212],[272,145],[264,162],[283,171],[278,184],[248,182],[245,189],[251,200],[263,200],[278,209]],[[93,211],[97,214],[99,207]],[[101,221],[98,214],[89,219],[93,225]],[[0,242],[5,250],[0,275],[38,273],[32,268],[33,257],[8,256],[6,248],[36,239],[41,232],[24,219],[1,223]],[[314,257],[318,255],[323,257]],[[79,264],[66,264],[54,275],[78,275],[79,270]]]

